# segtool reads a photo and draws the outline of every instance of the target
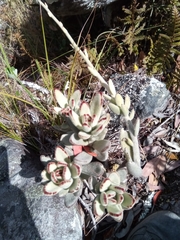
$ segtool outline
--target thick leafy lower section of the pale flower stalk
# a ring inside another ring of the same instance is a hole
[[[117,115],[122,115],[125,121],[127,130],[121,129],[120,142],[122,150],[127,160],[127,169],[135,177],[142,175],[141,160],[138,143],[138,133],[140,128],[140,120],[137,118],[133,123],[135,115],[134,109],[130,111],[131,100],[128,95],[125,99],[116,92],[114,84],[109,81],[110,96],[105,95],[109,100],[110,109]]]

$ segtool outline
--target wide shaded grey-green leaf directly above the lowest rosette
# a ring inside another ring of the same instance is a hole
[[[90,162],[89,164],[82,166],[82,173],[89,176],[100,177],[105,171],[106,169],[100,162]]]

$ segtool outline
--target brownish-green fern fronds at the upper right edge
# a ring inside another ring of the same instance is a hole
[[[174,6],[169,24],[164,33],[159,34],[146,59],[149,74],[163,73],[167,80],[180,81],[175,56],[180,54],[180,13]]]

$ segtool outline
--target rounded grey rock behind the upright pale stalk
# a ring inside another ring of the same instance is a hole
[[[115,74],[111,77],[117,91],[125,96],[128,94],[132,107],[141,119],[160,116],[171,98],[166,85],[154,77],[138,74]]]

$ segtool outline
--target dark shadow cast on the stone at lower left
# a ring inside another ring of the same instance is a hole
[[[40,240],[23,191],[11,184],[8,162],[7,149],[0,146],[0,239]]]

